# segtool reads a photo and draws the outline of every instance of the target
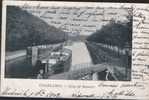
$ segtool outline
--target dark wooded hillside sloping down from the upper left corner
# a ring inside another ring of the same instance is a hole
[[[66,33],[16,6],[7,7],[6,50],[63,42]]]

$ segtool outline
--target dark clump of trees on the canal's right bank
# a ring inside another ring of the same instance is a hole
[[[127,23],[111,21],[90,35],[87,40],[124,48],[132,42],[132,18]]]

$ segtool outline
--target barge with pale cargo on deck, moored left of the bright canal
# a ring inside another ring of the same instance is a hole
[[[27,48],[34,75],[43,70],[44,78],[69,71],[72,63],[72,51],[62,45],[32,46]]]

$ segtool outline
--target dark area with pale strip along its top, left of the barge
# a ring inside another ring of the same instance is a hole
[[[6,78],[29,78],[32,77],[32,65],[26,56],[6,61],[5,77]]]

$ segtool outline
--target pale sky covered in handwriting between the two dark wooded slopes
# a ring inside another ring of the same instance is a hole
[[[91,35],[100,30],[111,19],[127,22],[128,9],[97,8],[97,7],[48,7],[23,8],[32,15],[39,17],[49,25],[60,28],[72,35]]]

